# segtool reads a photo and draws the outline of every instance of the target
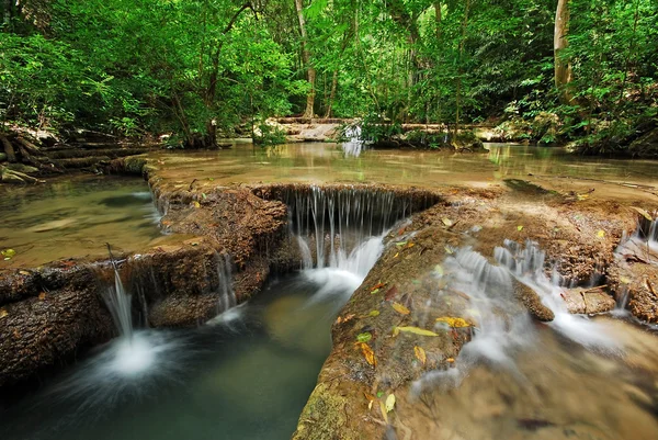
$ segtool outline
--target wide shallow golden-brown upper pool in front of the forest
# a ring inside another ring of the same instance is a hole
[[[556,148],[486,144],[488,153],[367,149],[358,157],[340,144],[288,144],[230,150],[154,153],[164,177],[177,183],[381,182],[405,185],[487,184],[508,178],[561,176],[655,184],[650,160],[615,160],[567,155]]]

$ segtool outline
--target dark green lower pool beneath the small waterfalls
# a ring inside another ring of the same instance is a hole
[[[0,413],[0,438],[290,439],[330,351],[331,323],[361,282],[333,282],[340,275],[328,270],[272,281],[197,329],[137,331],[146,370],[125,340],[100,347]]]

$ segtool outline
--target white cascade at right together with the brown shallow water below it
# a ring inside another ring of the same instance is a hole
[[[413,384],[416,411],[400,418],[428,439],[655,439],[656,335],[569,314],[559,280],[544,274],[541,249],[532,241],[501,245],[497,263],[465,248],[435,270],[442,287],[434,301],[445,301],[445,292],[465,294],[474,336],[453,368]],[[514,305],[512,282],[537,292],[555,319],[533,323]]]

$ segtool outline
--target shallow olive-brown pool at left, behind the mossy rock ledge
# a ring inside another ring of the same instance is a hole
[[[160,236],[158,212],[141,179],[94,177],[3,188],[0,248],[16,255],[4,267],[138,250]]]

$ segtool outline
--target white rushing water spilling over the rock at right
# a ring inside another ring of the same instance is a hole
[[[446,258],[433,275],[442,279],[445,289],[433,301],[450,301],[452,292],[469,297],[469,308],[464,318],[476,323],[473,339],[466,343],[457,358],[456,368],[424,374],[413,385],[415,393],[428,386],[457,386],[470,369],[487,364],[521,376],[517,357],[536,346],[538,335],[529,313],[520,307],[514,297],[513,282],[521,282],[535,291],[542,303],[555,314],[546,323],[563,337],[600,353],[622,356],[623,343],[614,336],[608,323],[595,321],[582,315],[571,315],[560,297],[563,287],[558,277],[552,281],[544,273],[545,253],[535,242],[525,247],[506,240],[496,248],[498,264],[484,256],[464,248]],[[436,325],[442,327],[442,324]]]

